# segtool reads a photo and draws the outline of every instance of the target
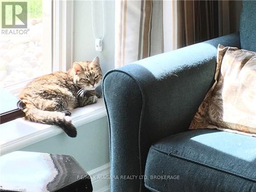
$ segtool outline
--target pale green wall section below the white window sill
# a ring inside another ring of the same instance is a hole
[[[77,137],[65,133],[34,143],[19,151],[73,156],[86,170],[109,162],[109,131],[106,117],[77,127]]]

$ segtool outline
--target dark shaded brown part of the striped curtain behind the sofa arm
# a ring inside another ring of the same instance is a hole
[[[178,47],[230,33],[229,1],[178,1]]]

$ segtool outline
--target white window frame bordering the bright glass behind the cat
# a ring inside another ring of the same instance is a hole
[[[66,0],[51,3],[51,70],[67,71],[71,68],[74,58],[74,2]],[[17,96],[33,79],[11,84],[4,89]]]

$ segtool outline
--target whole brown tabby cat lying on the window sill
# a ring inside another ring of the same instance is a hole
[[[26,119],[61,127],[70,137],[77,132],[70,110],[97,102],[95,88],[102,80],[99,58],[74,62],[67,72],[54,72],[34,79],[19,95],[26,104]]]

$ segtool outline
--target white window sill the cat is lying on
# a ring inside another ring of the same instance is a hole
[[[98,99],[98,102],[95,104],[74,109],[71,119],[74,125],[78,127],[104,116],[106,116],[106,109],[103,99]],[[34,123],[26,121],[24,118],[1,124],[0,155],[2,156],[17,151],[20,148],[48,139],[60,133],[63,133],[63,131],[57,126]]]

